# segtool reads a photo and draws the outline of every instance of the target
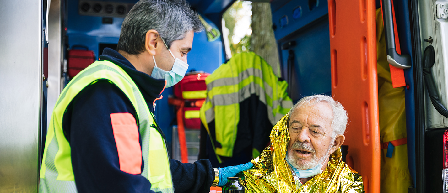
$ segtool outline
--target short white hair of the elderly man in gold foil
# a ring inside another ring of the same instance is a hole
[[[344,107],[340,102],[335,101],[331,96],[327,95],[311,95],[305,96],[300,99],[294,106],[289,110],[289,116],[294,111],[294,109],[305,106],[305,105],[314,105],[317,103],[327,103],[330,105],[333,111],[332,117],[332,129],[333,129],[333,137],[337,134],[344,134],[345,128],[347,127],[347,111],[344,110]],[[288,118],[288,126],[289,126],[289,118]]]

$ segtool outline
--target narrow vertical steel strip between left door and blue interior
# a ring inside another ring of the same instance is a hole
[[[47,90],[47,128],[53,108],[61,92],[61,68],[63,60],[62,19],[60,0],[52,0],[48,12],[48,90]]]

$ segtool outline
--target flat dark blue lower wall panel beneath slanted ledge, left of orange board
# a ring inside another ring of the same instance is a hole
[[[313,94],[331,95],[331,62],[330,62],[330,32],[328,20],[323,20],[295,34],[293,38],[279,41],[295,41],[291,50],[294,51],[294,79],[289,86],[293,89],[289,96],[297,102],[304,96]],[[281,50],[281,65],[287,71],[289,50]],[[284,73],[287,79],[288,73]]]

